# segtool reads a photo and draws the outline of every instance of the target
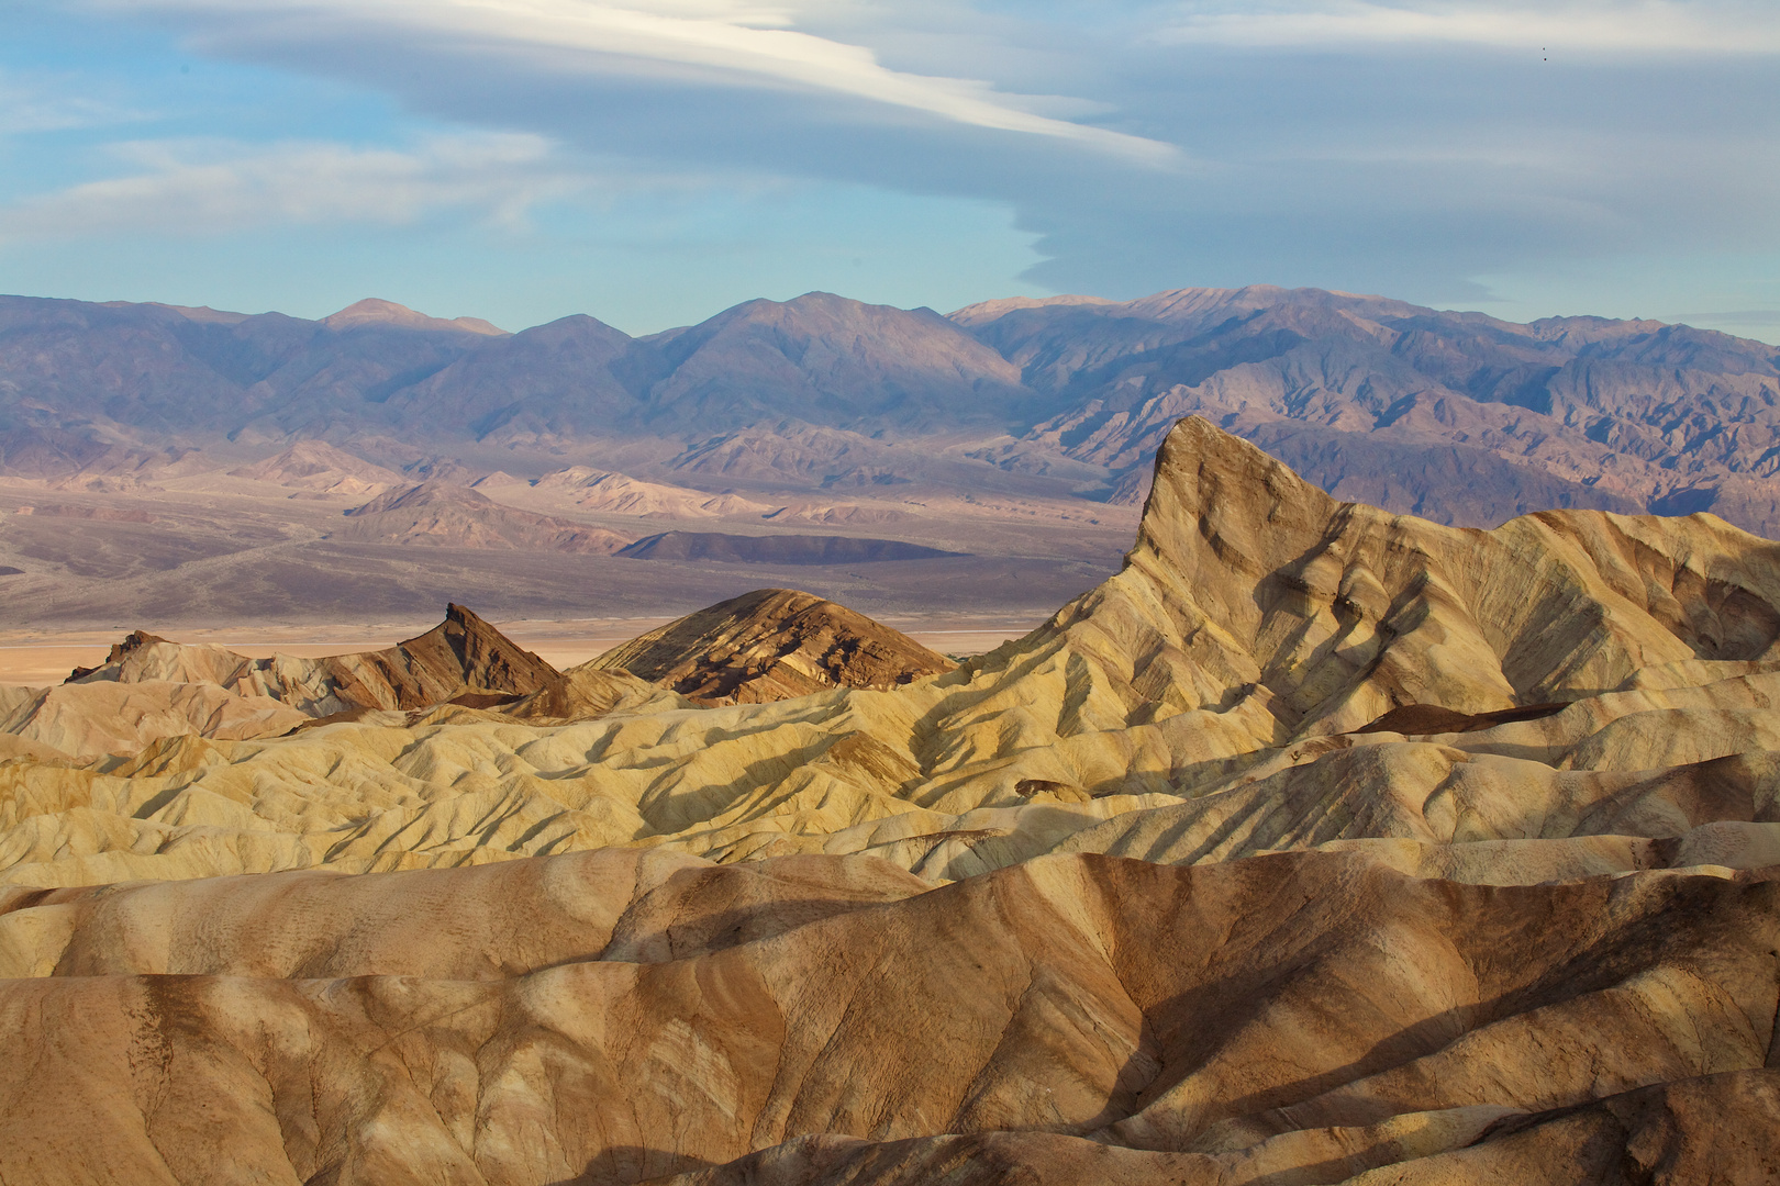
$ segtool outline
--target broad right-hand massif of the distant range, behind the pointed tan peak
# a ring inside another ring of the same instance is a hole
[[[1725,512],[1775,530],[1741,487],[1775,477],[1780,455],[1780,350],[1766,343],[1659,322],[1517,325],[1269,286],[991,302],[952,317],[1068,409],[1029,439],[1080,461],[1143,464],[1185,414],[1269,450],[1314,425],[1328,436],[1298,436],[1280,455],[1335,489],[1307,464],[1315,448],[1323,468],[1353,478],[1351,496],[1392,510],[1488,525],[1504,505],[1650,509],[1680,489],[1703,510],[1725,489]],[[1493,453],[1495,473],[1452,487],[1399,464],[1442,446]]]

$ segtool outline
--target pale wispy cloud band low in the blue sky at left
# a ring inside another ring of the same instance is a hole
[[[135,171],[0,208],[0,236],[214,235],[278,224],[400,226],[475,210],[518,226],[580,188],[536,135],[441,135],[411,151],[285,142],[137,140],[110,149]]]

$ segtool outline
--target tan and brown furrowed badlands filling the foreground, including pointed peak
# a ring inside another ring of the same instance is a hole
[[[895,688],[459,617],[425,706],[16,736],[0,1179],[1771,1181],[1776,560],[1184,421],[1123,573]],[[114,686],[295,702],[160,645]]]

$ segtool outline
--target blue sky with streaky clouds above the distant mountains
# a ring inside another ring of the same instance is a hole
[[[1780,343],[1780,4],[0,0],[0,292],[1239,284]]]

